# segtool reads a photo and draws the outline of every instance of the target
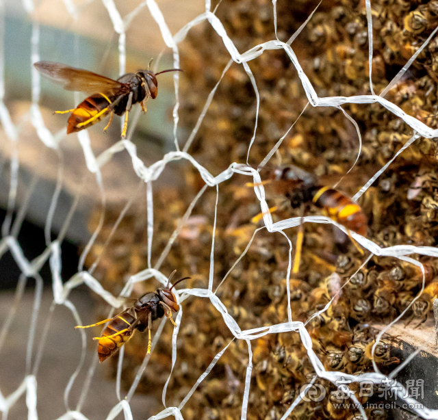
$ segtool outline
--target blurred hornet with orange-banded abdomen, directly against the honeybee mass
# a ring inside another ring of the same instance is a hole
[[[294,209],[311,202],[350,231],[367,234],[367,219],[361,207],[342,192],[320,185],[313,174],[293,165],[277,166],[271,172],[277,191],[285,194]]]

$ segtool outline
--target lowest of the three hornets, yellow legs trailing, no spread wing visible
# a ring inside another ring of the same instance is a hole
[[[159,287],[155,293],[145,293],[136,300],[133,306],[125,309],[125,311],[120,312],[118,315],[110,319],[104,319],[97,324],[75,326],[75,328],[90,328],[108,322],[101,337],[94,337],[93,339],[99,340],[99,345],[97,346],[99,363],[102,363],[103,360],[116,353],[120,347],[129,341],[136,330],[144,332],[146,328],[149,332],[147,354],[151,354],[151,329],[153,321],[157,318],[162,318],[166,315],[173,326],[177,326],[172,318],[172,312],[179,311],[179,306],[177,298],[172,293],[172,289],[178,283],[190,277],[180,278],[172,287],[168,287],[170,279],[176,271],[170,274],[166,286]]]

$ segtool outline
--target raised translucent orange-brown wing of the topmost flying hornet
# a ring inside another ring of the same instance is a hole
[[[120,83],[120,81],[81,68],[66,66],[66,64],[38,62],[34,66],[42,75],[62,84],[65,90],[87,93],[120,91],[120,94],[123,94],[125,90],[129,90],[126,83]]]

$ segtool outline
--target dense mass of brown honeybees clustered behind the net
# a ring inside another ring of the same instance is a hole
[[[276,3],[279,39],[287,40],[317,5],[316,0]],[[372,2],[372,81],[376,94],[387,86],[436,27],[437,5],[438,1]],[[240,52],[274,38],[269,0],[223,0],[216,14]],[[321,3],[292,48],[319,96],[371,93],[363,1]],[[435,127],[437,122],[436,51],[437,42],[433,40],[402,81],[385,96],[430,127]],[[181,68],[185,73],[181,77],[180,121],[187,127],[196,124],[209,92],[228,61],[229,54],[222,40],[209,25],[199,25],[190,31],[188,42],[181,46]],[[256,167],[296,120],[307,98],[296,70],[283,51],[265,51],[249,65],[261,101],[259,126],[249,155],[249,163]],[[359,170],[337,186],[343,194],[352,196],[394,157],[409,140],[412,130],[376,103],[346,105],[344,109],[359,124],[363,140]],[[233,64],[220,83],[189,153],[214,175],[233,161],[246,161],[255,116],[253,86],[242,66]],[[339,181],[355,161],[359,140],[355,127],[341,111],[308,108],[279,150],[283,165],[304,168],[319,176],[321,185],[333,185],[334,181],[330,180]],[[368,220],[367,236],[379,246],[436,245],[438,173],[434,168],[435,153],[435,142],[417,140],[359,200]],[[152,261],[157,261],[188,204],[203,186],[193,168],[184,168],[184,175],[184,189],[154,193]],[[262,179],[269,176],[267,170],[261,170]],[[219,186],[214,289],[244,252],[255,229],[261,226],[257,218],[259,202],[253,189],[245,186],[247,181],[247,177],[235,174]],[[266,190],[268,204],[276,207],[272,212],[274,222],[301,215],[302,208],[291,206],[291,194],[276,194],[272,185],[266,185]],[[207,189],[160,267],[162,272],[170,273],[177,268],[179,276],[191,276],[184,287],[208,285],[215,205],[216,189]],[[306,206],[306,214],[319,214],[319,207]],[[90,262],[99,254],[99,247],[118,215],[119,211],[110,213],[90,254]],[[95,226],[96,221],[90,224],[91,229]],[[118,293],[128,275],[146,268],[146,231],[146,215],[142,210],[128,215],[120,224],[96,271],[105,289]],[[295,244],[296,232],[286,233]],[[299,270],[290,280],[290,306],[294,320],[309,320],[307,329],[313,349],[327,370],[352,374],[373,371],[376,330],[370,325],[394,319],[421,289],[422,272],[415,265],[395,258],[373,257],[359,270],[367,256],[368,251],[362,254],[350,238],[338,235],[329,225],[304,226]],[[426,258],[420,261],[425,267],[426,289],[403,320],[412,325],[421,324],[430,316],[433,299],[438,297],[438,263]],[[259,231],[245,257],[217,291],[242,330],[287,321],[288,264],[287,239],[280,233]],[[135,293],[140,296],[154,286],[152,280],[137,284]],[[319,313],[332,299],[329,309]],[[212,358],[233,338],[209,300],[189,298],[182,308],[177,365],[167,399],[168,404],[176,406]],[[171,334],[172,327],[167,325],[152,354],[153,363],[140,382],[140,390],[151,393],[151,389],[161,389],[159,384],[166,381],[171,365]],[[131,368],[124,370],[127,384],[131,383],[135,368],[146,354],[146,343],[147,338],[137,334],[125,346],[124,363]],[[392,337],[384,337],[376,345],[374,361],[384,373],[400,362],[392,352],[394,347],[396,339]],[[185,405],[184,418],[240,417],[247,364],[246,342],[233,341]],[[298,333],[271,334],[253,341],[253,364],[248,419],[280,419],[301,386],[315,375]],[[320,379],[317,383],[329,391],[336,389]],[[359,400],[366,402],[365,398]],[[322,402],[302,402],[291,418],[360,418],[355,410],[339,409],[335,404],[333,395]],[[372,419],[387,417],[385,410],[368,410],[367,414]]]

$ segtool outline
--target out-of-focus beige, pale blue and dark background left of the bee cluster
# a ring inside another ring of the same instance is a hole
[[[106,3],[107,5],[110,2]],[[205,10],[200,1],[157,1],[172,34],[185,23]],[[135,72],[147,68],[151,58],[160,56],[159,70],[173,67],[172,53],[163,41],[159,27],[153,20],[145,3],[137,0],[115,1],[114,5],[122,18],[132,18],[126,32],[126,71]],[[109,6],[110,7],[110,6]],[[31,55],[38,51],[39,60],[61,62],[84,68],[95,73],[117,79],[120,76],[119,36],[109,12],[101,1],[13,1],[5,0],[0,5],[0,62],[3,70],[1,86],[3,101],[10,118],[18,129],[18,142],[8,140],[3,124],[0,124],[0,222],[6,219],[10,200],[11,163],[14,153],[18,154],[18,187],[15,205],[12,209],[12,235],[17,234],[24,256],[31,261],[46,248],[44,225],[50,203],[55,192],[58,171],[62,165],[60,197],[54,212],[51,237],[54,239],[66,220],[75,196],[81,194],[79,204],[68,226],[66,239],[62,243],[62,279],[65,283],[78,270],[79,254],[90,239],[88,220],[92,211],[101,211],[101,195],[96,194],[98,186],[88,172],[83,150],[76,135],[62,135],[66,131],[68,116],[54,116],[53,111],[75,107],[85,94],[66,92],[61,86],[42,78],[39,109],[44,124],[51,133],[62,136],[60,151],[49,149],[40,141],[29,118],[31,106]],[[164,153],[174,150],[172,107],[175,105],[175,90],[172,74],[159,77],[159,95],[149,101],[146,115],[142,114],[136,127],[138,156],[146,166],[162,158]],[[131,121],[133,121],[131,114]],[[120,118],[116,117],[110,130],[103,133],[104,125],[92,127],[92,150],[99,155],[120,140]],[[179,135],[183,129],[179,129]],[[157,185],[178,183],[175,174],[179,168],[166,170]],[[138,177],[132,170],[129,155],[117,153],[102,171],[108,208],[123,207],[138,188]],[[84,180],[85,179],[85,180]],[[22,209],[25,221],[21,226]],[[3,231],[4,232],[4,231]],[[4,236],[4,235],[3,235]],[[0,325],[14,308],[15,289],[21,270],[10,252],[0,258]],[[44,289],[36,324],[37,342],[49,316],[53,300],[52,277],[49,263],[40,271]],[[34,306],[35,280],[29,278],[21,302],[16,306],[18,316],[1,348],[0,389],[3,396],[15,391],[25,377],[25,354],[29,336],[31,311]],[[88,287],[79,287],[71,294],[72,302],[81,314],[83,324],[96,321],[95,303]],[[63,394],[68,379],[75,371],[81,354],[81,340],[73,329],[75,320],[64,306],[57,306],[49,331],[47,347],[38,373],[38,415],[42,419],[55,419],[62,415]],[[95,356],[95,343],[91,341],[87,363]],[[76,384],[85,378],[83,369]],[[93,380],[94,397],[87,399],[83,414],[90,419],[103,419],[116,404],[114,381],[107,381],[108,368],[98,369]],[[70,405],[75,406],[80,395],[80,386],[73,388]],[[149,397],[133,398],[131,405],[135,418],[147,418],[157,411],[157,402]],[[27,417],[25,397],[11,408],[10,419]]]

